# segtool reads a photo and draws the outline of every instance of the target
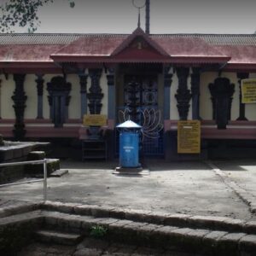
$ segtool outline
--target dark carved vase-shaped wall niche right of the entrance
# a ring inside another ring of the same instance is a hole
[[[218,129],[226,129],[231,116],[231,104],[235,92],[235,84],[230,84],[230,79],[218,78],[209,84],[212,95],[213,119],[216,120]]]

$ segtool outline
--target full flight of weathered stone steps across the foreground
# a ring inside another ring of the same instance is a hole
[[[12,211],[14,215],[0,218],[0,231],[5,226],[30,227],[33,232],[44,227],[41,237],[65,241],[65,234],[91,237],[92,227],[103,227],[107,231],[102,239],[111,243],[210,256],[256,255],[256,224],[252,221],[55,202],[38,205],[32,212],[25,208],[20,214]]]

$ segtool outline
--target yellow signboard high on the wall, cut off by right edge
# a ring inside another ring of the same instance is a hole
[[[256,79],[241,80],[241,102],[256,103]]]

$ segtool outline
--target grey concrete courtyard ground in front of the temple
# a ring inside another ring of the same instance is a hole
[[[48,199],[255,220],[249,203],[237,195],[230,182],[236,182],[245,194],[248,193],[251,205],[256,203],[256,160],[215,161],[213,164],[224,175],[218,175],[211,166],[199,161],[145,160],[150,171],[148,176],[118,176],[112,173],[117,162],[62,160],[61,168],[68,169],[69,173],[48,179]],[[2,203],[41,201],[43,185],[30,183],[3,188],[0,198]]]

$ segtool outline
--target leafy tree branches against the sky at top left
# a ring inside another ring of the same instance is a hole
[[[35,32],[40,25],[38,9],[54,0],[6,0],[0,5],[0,32],[14,32],[14,26],[28,27]],[[67,0],[73,8],[73,0]]]

